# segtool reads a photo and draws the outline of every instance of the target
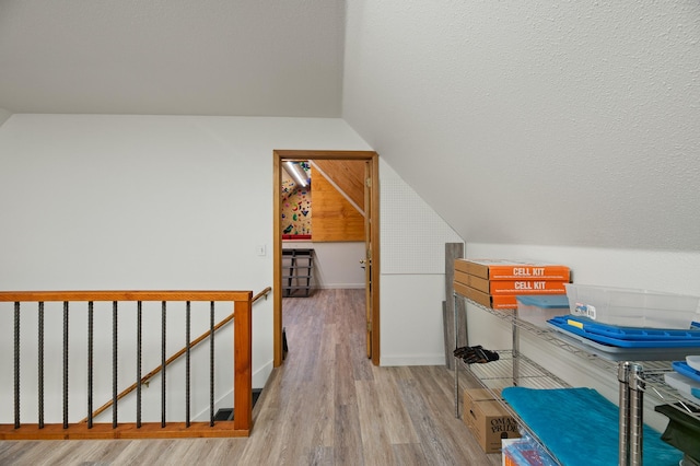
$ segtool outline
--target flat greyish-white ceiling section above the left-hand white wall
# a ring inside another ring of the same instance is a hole
[[[12,113],[340,115],[342,0],[1,0]]]

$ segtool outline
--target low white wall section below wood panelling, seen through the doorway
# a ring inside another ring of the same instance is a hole
[[[360,267],[364,242],[284,241],[282,246],[314,249],[314,288],[364,288],[364,269]]]

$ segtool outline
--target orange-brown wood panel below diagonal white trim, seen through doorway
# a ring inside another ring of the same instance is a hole
[[[314,242],[364,241],[364,217],[323,175],[312,174],[312,190]]]

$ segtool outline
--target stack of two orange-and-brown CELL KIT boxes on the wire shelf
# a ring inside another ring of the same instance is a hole
[[[454,290],[481,305],[515,308],[523,294],[565,294],[569,267],[508,259],[456,259]]]

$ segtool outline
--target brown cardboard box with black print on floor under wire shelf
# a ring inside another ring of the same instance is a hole
[[[501,439],[521,436],[515,419],[483,388],[464,391],[462,420],[486,453],[499,453]]]

